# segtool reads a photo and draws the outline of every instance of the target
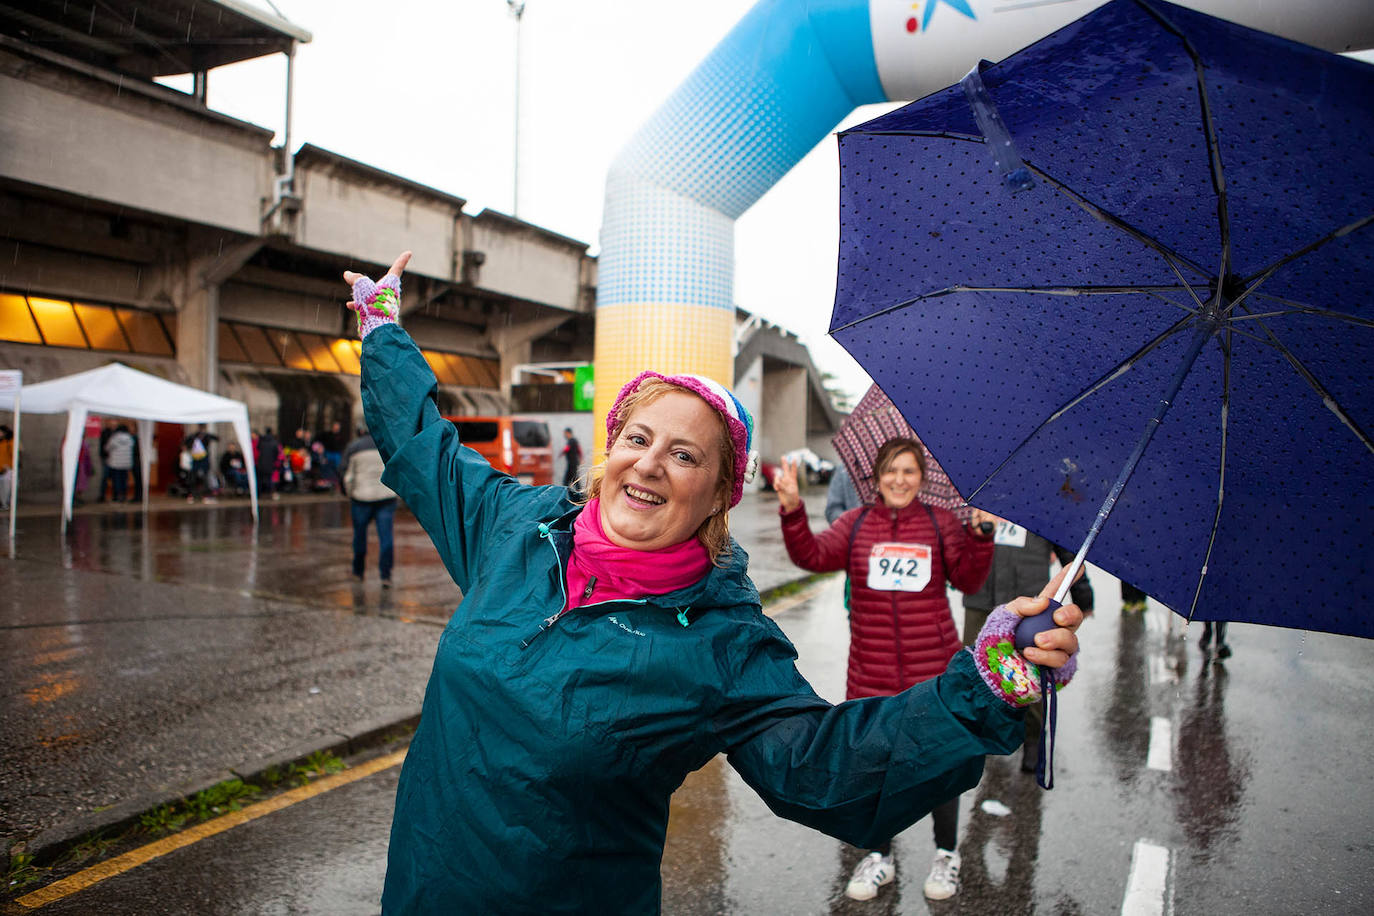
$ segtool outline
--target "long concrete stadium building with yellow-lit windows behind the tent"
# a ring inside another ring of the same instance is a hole
[[[246,401],[254,428],[353,424],[357,347],[339,276],[379,273],[403,249],[415,253],[404,323],[445,412],[508,411],[517,367],[591,363],[587,243],[466,213],[459,196],[312,144],[289,154],[290,62],[309,40],[239,0],[106,0],[93,14],[0,1],[0,367],[37,382],[117,358]],[[282,147],[206,106],[213,67],[264,54],[289,62]],[[190,93],[154,80],[180,73]],[[750,356],[739,371],[794,368]],[[779,402],[791,401],[808,402]],[[26,420],[29,452],[60,435],[49,422]],[[779,430],[765,433],[779,452],[809,441],[804,416],[761,422]],[[47,455],[27,455],[25,471],[26,489],[56,488]]]

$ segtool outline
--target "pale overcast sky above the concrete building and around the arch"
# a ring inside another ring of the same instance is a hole
[[[504,0],[251,3],[313,36],[295,59],[293,148],[313,143],[455,194],[469,213],[513,211],[515,18]],[[598,253],[611,159],[753,4],[528,0],[519,217]],[[284,84],[282,55],[221,67],[210,107],[280,132]],[[857,397],[868,376],[826,336],[838,174],[831,136],[739,220],[735,302],[800,334]]]

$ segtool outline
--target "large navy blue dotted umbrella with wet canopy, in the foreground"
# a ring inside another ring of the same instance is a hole
[[[1370,99],[1113,0],[841,135],[831,334],[974,504],[1190,617],[1374,636]]]

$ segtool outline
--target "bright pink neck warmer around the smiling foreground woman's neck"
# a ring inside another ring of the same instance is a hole
[[[710,555],[695,537],[657,551],[636,551],[614,544],[600,526],[600,500],[592,500],[573,522],[566,610],[600,602],[666,595],[687,588],[709,570]]]

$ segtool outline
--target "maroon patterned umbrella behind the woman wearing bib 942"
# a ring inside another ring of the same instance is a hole
[[[910,438],[921,442],[921,437],[901,416],[892,400],[882,393],[877,385],[870,385],[868,390],[853,412],[840,424],[840,430],[830,438],[835,452],[849,471],[849,479],[863,503],[874,503],[878,499],[878,479],[874,477],[874,459],[878,449],[892,438]],[[925,442],[921,449],[926,453],[926,472],[921,481],[921,492],[916,499],[929,505],[949,509],[967,522],[973,515],[973,507],[966,505],[959,490],[949,482],[949,475],[940,467],[940,461],[930,453]]]

